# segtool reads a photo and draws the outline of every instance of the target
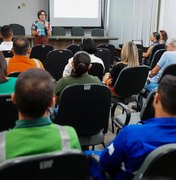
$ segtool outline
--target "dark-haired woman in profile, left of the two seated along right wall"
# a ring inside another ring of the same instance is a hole
[[[146,65],[150,64],[150,55],[152,54],[153,47],[159,44],[160,40],[160,34],[158,32],[153,32],[150,36],[150,41],[152,44],[148,47],[146,52],[143,52],[142,57],[143,57],[143,63]]]

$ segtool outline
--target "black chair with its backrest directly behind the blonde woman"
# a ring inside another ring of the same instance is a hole
[[[149,68],[147,66],[126,67],[122,69],[119,76],[117,77],[116,82],[114,84],[114,91],[117,95],[112,96],[111,98],[112,132],[114,132],[114,125],[117,126],[117,124],[114,122],[114,117],[115,110],[116,107],[119,106],[119,102],[125,105],[128,105],[130,102],[136,102],[137,111],[139,112],[141,110],[143,101],[142,97],[140,96],[140,92],[144,88],[144,85],[148,77],[148,72]],[[125,123],[125,125],[129,123],[129,118],[127,120],[128,121]],[[121,127],[122,126],[119,125],[119,128]]]

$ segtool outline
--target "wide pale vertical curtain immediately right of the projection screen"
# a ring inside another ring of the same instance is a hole
[[[118,37],[116,47],[131,40],[150,45],[150,35],[157,31],[158,0],[110,0],[108,32]]]

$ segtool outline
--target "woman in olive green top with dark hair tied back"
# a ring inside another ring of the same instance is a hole
[[[88,70],[91,68],[91,58],[87,52],[79,51],[74,57],[72,67],[73,71],[71,75],[67,77],[62,77],[56,84],[55,94],[56,94],[56,103],[59,104],[59,96],[63,89],[71,84],[84,84],[84,83],[99,83],[101,81],[98,77],[88,74]]]

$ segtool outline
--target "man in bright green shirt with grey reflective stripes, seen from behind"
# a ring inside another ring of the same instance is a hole
[[[58,126],[49,118],[48,108],[55,97],[54,80],[47,71],[33,68],[21,73],[12,101],[19,110],[19,120],[13,129],[0,133],[0,144],[5,144],[0,145],[0,161],[63,148],[81,149],[72,127]]]

